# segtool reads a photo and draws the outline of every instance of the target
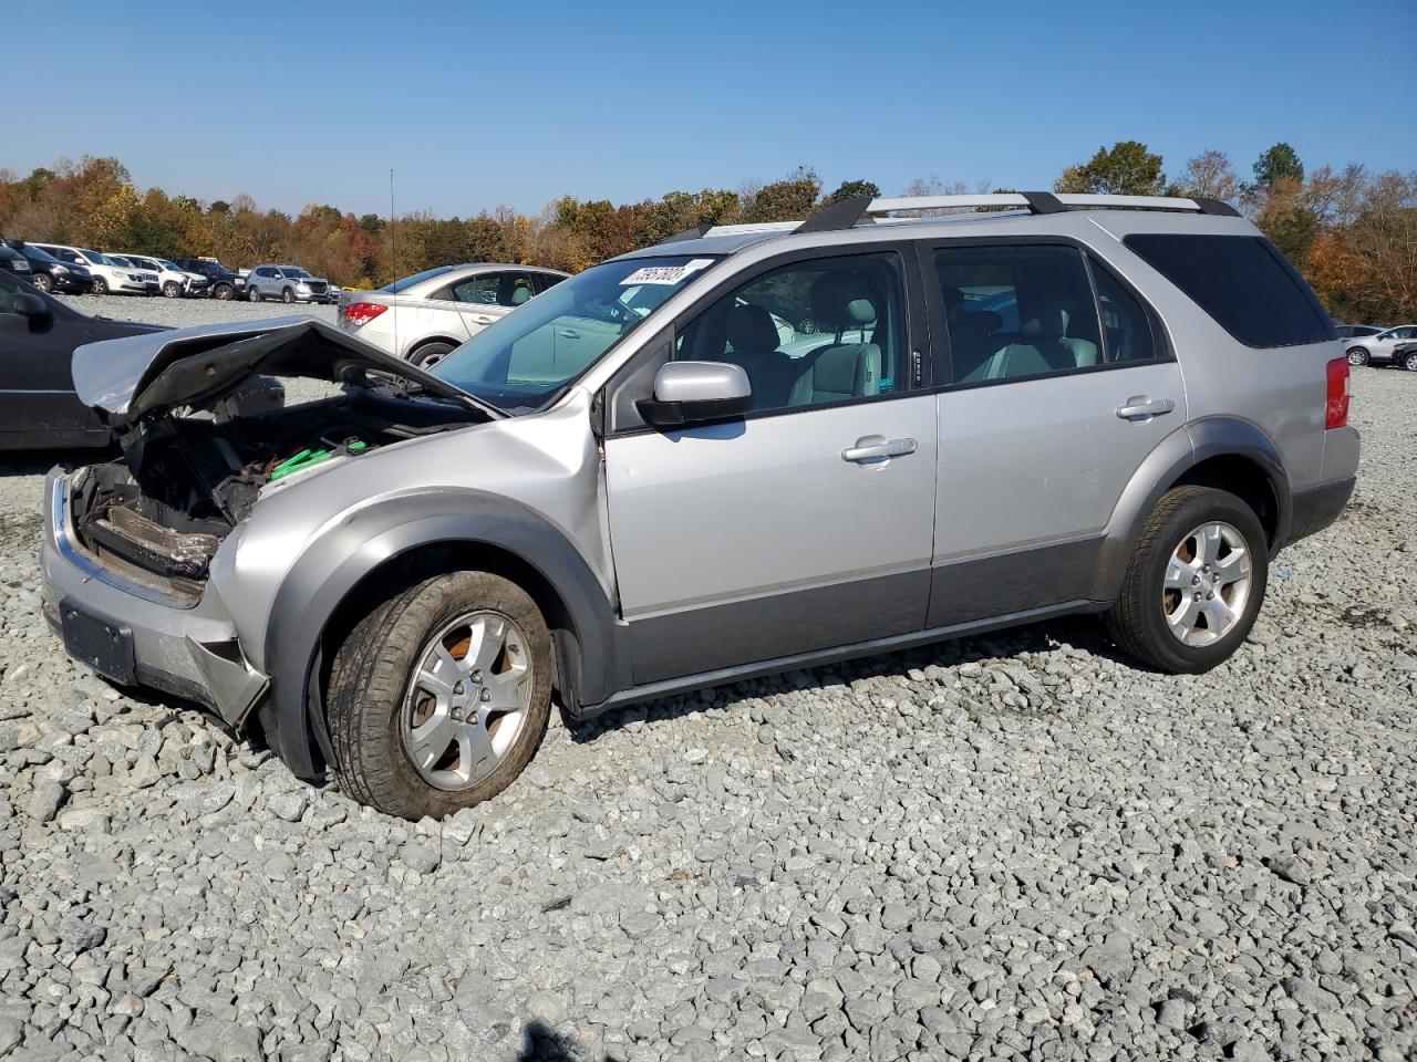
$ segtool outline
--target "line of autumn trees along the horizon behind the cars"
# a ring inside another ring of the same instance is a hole
[[[1306,170],[1285,143],[1264,152],[1241,178],[1223,152],[1204,150],[1170,177],[1161,154],[1136,140],[1098,147],[1067,167],[1056,191],[1206,195],[1238,207],[1299,268],[1339,320],[1417,319],[1417,173],[1370,173],[1360,164]],[[901,194],[1003,191],[918,178]],[[312,204],[290,217],[249,195],[207,202],[137,188],[112,157],[85,156],[27,177],[0,170],[0,232],[164,258],[211,255],[231,266],[281,261],[350,287],[373,287],[455,262],[520,262],[577,272],[657,244],[694,225],[794,221],[853,195],[879,195],[869,180],[826,191],[816,171],[738,188],[670,191],[615,204],[564,195],[540,214],[509,207],[472,218],[431,212],[356,217]]]

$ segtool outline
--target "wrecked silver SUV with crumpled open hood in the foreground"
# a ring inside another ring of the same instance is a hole
[[[51,473],[45,612],[111,680],[438,817],[553,700],[1064,613],[1206,671],[1348,501],[1348,374],[1224,204],[853,200],[605,262],[432,372],[309,319],[81,347],[125,457]]]

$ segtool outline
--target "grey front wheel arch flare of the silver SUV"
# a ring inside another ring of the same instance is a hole
[[[290,566],[271,609],[265,663],[271,695],[261,722],[272,749],[303,777],[320,773],[316,738],[323,719],[315,666],[330,617],[360,582],[384,564],[429,545],[493,547],[530,565],[550,585],[570,616],[574,651],[563,653],[564,675],[575,700],[601,701],[612,692],[625,658],[614,602],[591,565],[551,521],[497,494],[434,490],[391,497],[351,511],[313,538]],[[592,666],[582,667],[591,661]],[[563,690],[565,692],[565,690]]]

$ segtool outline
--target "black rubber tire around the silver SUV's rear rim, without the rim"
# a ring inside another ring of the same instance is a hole
[[[1187,534],[1207,523],[1224,523],[1244,539],[1250,554],[1248,592],[1233,626],[1216,641],[1190,646],[1168,626],[1163,596],[1166,568]],[[1132,549],[1122,588],[1107,613],[1107,629],[1129,656],[1158,671],[1200,674],[1238,649],[1264,605],[1270,549],[1264,527],[1244,501],[1212,487],[1175,487],[1152,510]]]

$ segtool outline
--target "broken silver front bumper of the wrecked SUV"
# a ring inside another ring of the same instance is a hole
[[[105,566],[74,534],[69,479],[45,480],[44,617],[77,660],[120,684],[152,687],[239,726],[269,680],[247,661],[211,586],[196,603]]]

